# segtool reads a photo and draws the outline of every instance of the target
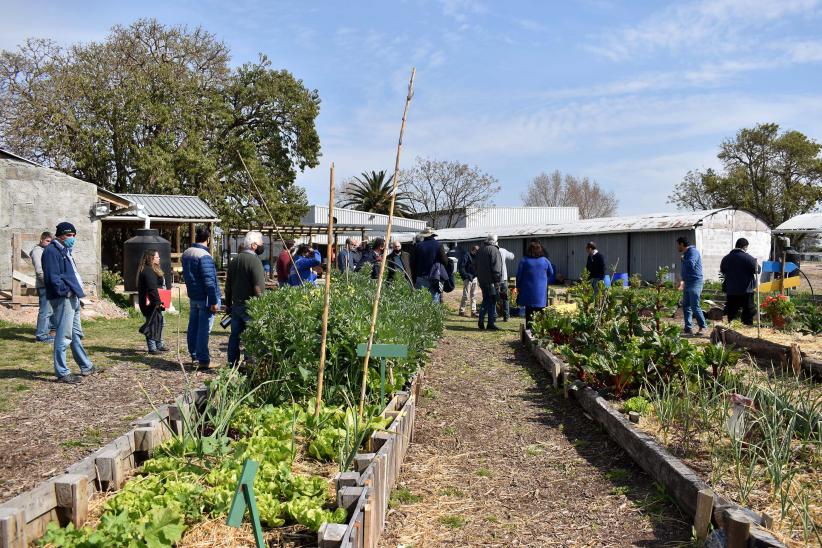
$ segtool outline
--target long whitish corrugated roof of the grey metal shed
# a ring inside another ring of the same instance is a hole
[[[436,230],[440,240],[464,241],[482,240],[488,234],[499,238],[520,238],[527,236],[558,236],[574,234],[607,234],[619,232],[653,232],[673,231],[693,228],[706,217],[723,211],[708,209],[704,211],[685,211],[677,213],[651,213],[627,217],[601,217],[582,219],[571,223],[499,226],[482,228],[443,228]],[[397,239],[410,241],[413,234],[397,235]]]

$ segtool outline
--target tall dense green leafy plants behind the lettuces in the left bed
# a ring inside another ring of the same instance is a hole
[[[255,380],[276,381],[264,391],[272,403],[315,396],[324,291],[324,287],[284,288],[249,302],[252,321],[243,340],[256,361]],[[362,359],[357,357],[357,345],[368,341],[375,294],[376,283],[367,275],[331,284],[323,394],[328,403],[359,399]],[[403,386],[442,330],[443,309],[431,302],[430,293],[404,283],[383,286],[374,342],[408,346],[408,359],[391,364],[394,382],[386,387],[387,392]],[[378,393],[379,361],[370,363],[368,385]]]

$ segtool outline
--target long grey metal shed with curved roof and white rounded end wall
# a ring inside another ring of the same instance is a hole
[[[585,219],[550,225],[520,225],[495,228],[452,228],[437,230],[443,242],[456,242],[462,249],[479,243],[489,233],[499,237],[500,246],[516,255],[508,264],[510,276],[516,273],[519,259],[531,239],[538,239],[558,274],[579,278],[585,267],[585,244],[594,241],[605,256],[608,269],[654,278],[660,266],[679,270],[679,236],[695,243],[702,253],[707,280],[719,279],[719,263],[737,238],[750,242],[748,252],[760,262],[767,260],[771,248],[771,229],[755,215],[733,208],[678,213]],[[406,236],[403,239],[409,240]]]

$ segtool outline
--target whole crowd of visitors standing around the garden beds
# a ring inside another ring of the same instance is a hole
[[[83,376],[95,373],[88,353],[82,344],[83,328],[80,320],[81,301],[84,297],[83,281],[72,249],[77,239],[77,231],[69,222],[61,222],[52,235],[43,232],[40,241],[30,252],[35,269],[36,287],[39,297],[39,311],[35,327],[37,342],[54,344],[54,370],[59,382],[79,383]],[[251,320],[247,302],[263,294],[266,289],[266,272],[260,259],[264,253],[262,233],[249,231],[242,246],[228,265],[225,280],[225,297],[217,277],[217,265],[210,252],[211,232],[207,227],[199,227],[194,234],[194,243],[182,254],[182,272],[189,298],[189,319],[186,343],[191,363],[199,369],[211,365],[209,336],[214,319],[225,311],[221,322],[230,325],[227,359],[230,364],[241,360],[240,340],[246,325]],[[287,239],[277,257],[275,272],[279,287],[300,287],[316,285],[323,272],[322,257],[316,244],[299,244]],[[682,254],[680,287],[684,311],[684,332],[693,333],[696,320],[697,334],[707,327],[700,307],[704,275],[699,251],[685,237],[676,241]],[[330,261],[342,275],[367,271],[376,279],[379,276],[382,259],[385,256],[386,279],[388,283],[402,280],[410,287],[428,291],[434,302],[442,301],[442,294],[454,290],[455,274],[463,281],[459,314],[477,318],[482,330],[498,330],[498,308],[502,321],[510,316],[510,293],[508,286],[507,262],[516,256],[500,247],[497,236],[489,234],[482,245],[473,245],[466,252],[451,250],[455,258],[449,257],[446,245],[437,240],[437,234],[426,229],[418,234],[414,243],[405,250],[399,241],[389,245],[383,238],[373,242],[347,238],[336,257]],[[741,312],[742,322],[752,324],[756,315],[754,292],[759,272],[756,259],[747,253],[748,241],[737,240],[735,248],[722,259],[720,271],[723,289],[727,294],[724,313],[731,321]],[[599,291],[606,279],[605,257],[594,242],[585,246],[587,259],[585,269]],[[166,285],[160,253],[148,249],[143,254],[137,272],[137,299],[145,322],[140,327],[146,339],[150,354],[168,350],[163,342],[163,312],[166,304],[160,291]],[[548,286],[554,280],[555,272],[551,261],[538,240],[531,240],[525,255],[519,261],[516,272],[516,305],[524,308],[525,324],[532,327],[534,315],[547,305]],[[477,291],[482,294],[478,304]],[[80,375],[74,375],[66,363],[67,350],[79,366]]]

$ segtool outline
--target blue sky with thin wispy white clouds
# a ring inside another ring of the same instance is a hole
[[[0,0],[0,48],[28,36],[100,40],[155,17],[201,25],[232,63],[268,55],[322,99],[322,163],[298,177],[326,202],[338,179],[393,169],[410,69],[403,166],[416,156],[496,176],[497,205],[559,169],[613,190],[619,213],[668,211],[720,141],[777,122],[822,140],[822,0],[363,2]]]

